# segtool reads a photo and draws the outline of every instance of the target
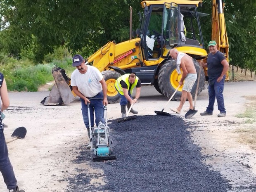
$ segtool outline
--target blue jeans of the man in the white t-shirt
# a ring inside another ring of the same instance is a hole
[[[91,121],[91,127],[94,126],[94,112],[95,112],[95,122],[96,126],[99,125],[99,122],[105,124],[104,119],[104,105],[103,105],[103,92],[99,92],[96,96],[89,98],[90,100],[90,121]],[[85,126],[88,131],[88,136],[90,138],[90,129],[89,129],[89,118],[88,118],[88,107],[85,104],[85,101],[80,98],[81,106],[82,106],[82,114],[83,114],[83,122],[85,123]]]

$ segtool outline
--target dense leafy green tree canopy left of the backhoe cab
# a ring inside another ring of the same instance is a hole
[[[1,0],[0,15],[9,23],[0,31],[8,43],[1,44],[17,57],[33,45],[38,62],[59,46],[89,56],[110,40],[128,39],[133,4],[140,5],[138,0]]]

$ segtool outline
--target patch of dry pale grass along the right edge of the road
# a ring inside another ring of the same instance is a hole
[[[244,118],[242,128],[236,130],[240,134],[239,142],[250,145],[256,149],[256,95],[245,97],[249,102],[246,110],[242,114],[237,114],[238,118]]]

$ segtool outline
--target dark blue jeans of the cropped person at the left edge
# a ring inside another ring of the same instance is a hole
[[[12,164],[9,160],[3,129],[0,129],[0,171],[4,178],[7,189],[16,189],[17,180],[14,175]]]

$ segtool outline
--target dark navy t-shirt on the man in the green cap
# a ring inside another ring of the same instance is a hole
[[[226,59],[222,52],[217,51],[214,55],[211,53],[207,58],[208,76],[210,79],[218,78],[223,71],[223,65],[221,62]]]

